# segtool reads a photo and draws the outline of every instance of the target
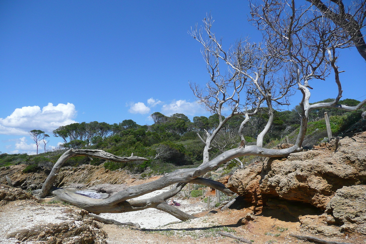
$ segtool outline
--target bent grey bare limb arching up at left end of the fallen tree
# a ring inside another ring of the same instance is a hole
[[[53,188],[53,184],[56,181],[57,174],[59,173],[61,167],[63,164],[67,161],[67,159],[72,157],[81,157],[81,156],[90,156],[95,158],[101,158],[106,159],[113,162],[130,162],[130,161],[139,161],[148,160],[147,158],[143,157],[136,157],[131,155],[131,157],[122,158],[117,157],[111,153],[107,153],[103,150],[96,150],[96,149],[70,149],[67,150],[64,154],[61,155],[59,160],[57,160],[56,164],[53,165],[53,168],[51,170],[51,173],[48,175],[47,179],[42,185],[42,191],[39,193],[40,198],[44,198],[46,195],[48,195]]]

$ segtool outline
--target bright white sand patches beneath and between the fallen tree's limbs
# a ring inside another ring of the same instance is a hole
[[[143,196],[139,196],[138,198],[134,199],[145,199],[145,198],[151,198],[153,196],[156,196],[158,194],[163,193],[164,191],[167,191],[168,188],[164,188],[158,191],[151,192],[149,194],[145,194]],[[132,199],[131,199],[132,200]],[[180,203],[180,206],[176,206],[176,208],[188,213],[188,214],[194,214],[199,213],[205,210],[205,205],[202,202],[198,202],[195,204],[190,204],[188,200],[178,200],[178,203]],[[157,210],[157,209],[145,209],[141,211],[134,211],[134,212],[128,212],[128,213],[121,213],[121,214],[111,214],[111,213],[103,213],[99,215],[102,218],[106,219],[115,219],[119,222],[128,222],[131,221],[132,223],[137,223],[141,226],[141,228],[157,228],[162,225],[169,224],[171,222],[180,221],[178,218],[174,217],[173,215],[170,215],[168,213],[165,213],[164,211]]]

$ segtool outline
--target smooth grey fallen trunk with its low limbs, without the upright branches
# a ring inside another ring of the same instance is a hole
[[[52,193],[55,194],[59,200],[68,202],[74,206],[85,209],[90,213],[95,214],[124,213],[130,211],[143,210],[147,208],[155,208],[163,210],[169,214],[172,214],[173,216],[175,216],[180,220],[187,220],[195,217],[190,214],[184,213],[183,211],[177,209],[176,207],[170,206],[166,203],[167,199],[178,194],[178,192],[181,191],[184,185],[186,185],[187,183],[201,184],[208,187],[212,187],[219,191],[222,191],[225,195],[232,196],[234,195],[234,192],[226,188],[224,184],[214,180],[201,178],[199,176],[211,170],[217,169],[218,166],[224,164],[225,162],[233,158],[241,157],[244,155],[261,155],[264,157],[284,157],[292,152],[296,152],[299,150],[301,150],[301,148],[296,146],[280,150],[265,149],[258,146],[247,146],[245,148],[236,148],[228,150],[219,155],[218,157],[212,159],[211,161],[202,163],[197,168],[178,169],[171,173],[166,173],[164,174],[164,176],[160,177],[155,181],[132,186],[106,199],[92,199],[86,196],[74,194],[64,189],[56,189]],[[57,174],[62,165],[64,164],[64,162],[66,162],[67,159],[71,157],[78,157],[78,156],[97,157],[115,162],[147,160],[146,158],[134,157],[134,156],[128,158],[116,157],[115,155],[106,153],[102,150],[70,149],[66,151],[53,166],[51,173],[49,174],[45,183],[42,186],[41,192],[39,194],[40,197],[45,197],[46,195],[49,194],[49,192],[53,188],[53,184],[56,180]],[[163,189],[172,184],[175,185],[171,190],[164,192],[160,195],[154,196],[153,198],[142,199],[142,200],[130,200],[132,198],[136,198],[138,196],[142,196],[147,193]]]

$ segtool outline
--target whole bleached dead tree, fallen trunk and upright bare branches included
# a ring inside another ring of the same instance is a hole
[[[337,0],[337,3],[340,2]],[[263,43],[254,44],[248,40],[240,40],[232,48],[225,50],[222,40],[217,39],[212,31],[211,16],[203,20],[203,27],[196,26],[191,31],[191,35],[203,47],[203,57],[210,74],[210,81],[205,88],[196,85],[191,85],[191,88],[198,102],[205,105],[210,112],[216,113],[219,118],[219,124],[211,133],[206,131],[206,136],[198,135],[205,145],[203,162],[200,166],[166,173],[160,179],[124,189],[107,199],[91,199],[64,189],[53,190],[57,172],[68,158],[87,155],[111,161],[125,160],[124,162],[146,159],[119,158],[100,150],[71,149],[64,153],[53,167],[40,196],[44,197],[52,192],[60,200],[96,214],[156,208],[181,220],[194,218],[168,205],[165,200],[176,195],[187,183],[206,185],[231,196],[233,192],[223,184],[200,176],[217,169],[229,160],[246,155],[287,157],[290,153],[301,151],[309,112],[312,109],[338,108],[352,111],[366,104],[366,100],[353,107],[339,104],[342,88],[339,76],[341,71],[336,65],[337,52],[341,48],[355,44],[350,35],[342,33],[341,27],[322,15],[321,11],[313,9],[311,5],[296,6],[294,0],[284,2],[268,0],[263,4],[251,3],[251,14],[254,25],[264,35]],[[362,23],[359,25],[362,26]],[[224,73],[219,69],[220,65],[224,65]],[[334,75],[334,82],[338,87],[336,99],[327,103],[310,104],[311,82],[324,80],[330,74]],[[302,93],[301,123],[295,144],[287,149],[264,148],[264,136],[272,125],[273,111],[277,106],[288,104],[288,97],[293,94],[293,89],[298,89]],[[242,133],[243,127],[262,107],[266,107],[268,111],[267,124],[259,133],[257,144],[246,145]],[[224,115],[224,111],[227,115]],[[222,152],[215,158],[210,158],[209,151],[215,137],[234,116],[243,116],[238,131],[240,138],[238,146]],[[173,185],[169,191],[153,198],[132,199],[169,185]]]

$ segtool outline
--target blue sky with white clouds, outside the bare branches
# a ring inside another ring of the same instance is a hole
[[[188,85],[209,79],[201,46],[187,33],[207,12],[227,47],[241,37],[261,40],[247,22],[247,1],[0,1],[0,151],[35,153],[32,129],[152,124],[153,112],[209,116]],[[339,66],[347,71],[343,98],[366,95],[358,53],[344,50]],[[336,95],[333,83],[311,86],[313,102]],[[61,142],[49,140],[47,149]]]

